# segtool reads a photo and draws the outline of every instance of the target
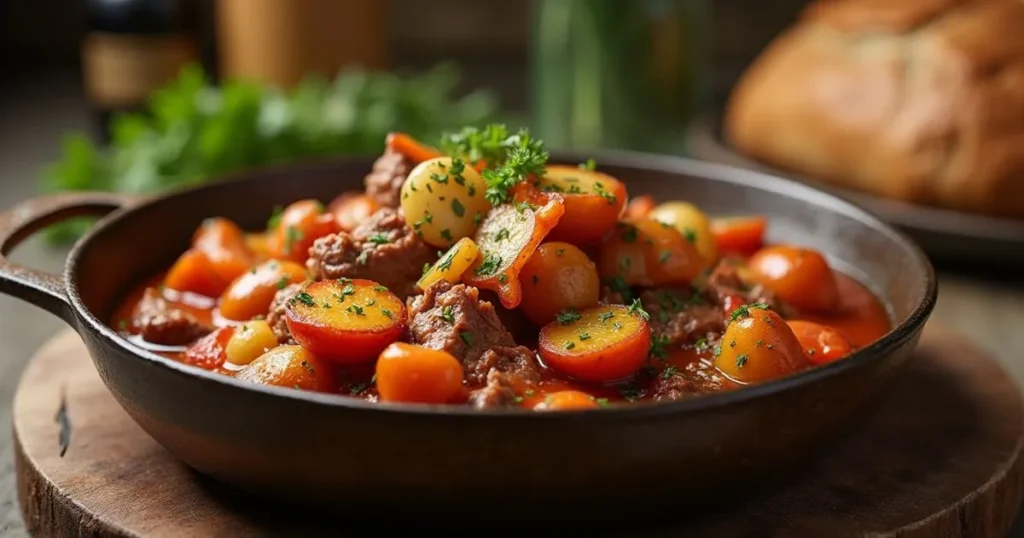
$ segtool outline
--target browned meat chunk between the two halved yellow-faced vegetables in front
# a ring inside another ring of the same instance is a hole
[[[476,288],[439,281],[413,299],[409,320],[410,340],[462,361],[470,385],[483,384],[492,371],[524,381],[540,379],[534,351],[516,345]]]

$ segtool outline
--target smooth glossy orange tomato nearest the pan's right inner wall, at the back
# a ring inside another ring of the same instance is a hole
[[[815,250],[785,245],[765,247],[748,264],[755,280],[798,308],[834,312],[839,307],[836,275]]]

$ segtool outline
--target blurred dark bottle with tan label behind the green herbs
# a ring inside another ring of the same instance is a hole
[[[207,30],[203,0],[84,0],[82,74],[97,135],[110,140],[110,120],[137,111],[150,93],[201,63]]]

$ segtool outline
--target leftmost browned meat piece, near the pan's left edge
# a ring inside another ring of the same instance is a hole
[[[142,339],[159,345],[184,345],[213,331],[212,326],[167,302],[157,288],[146,288],[131,318]]]

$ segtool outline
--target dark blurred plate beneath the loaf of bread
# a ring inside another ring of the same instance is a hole
[[[883,220],[898,226],[950,237],[1024,245],[1024,220],[1021,219],[882,198],[869,193],[834,185],[799,172],[782,170],[749,157],[725,140],[722,135],[720,114],[708,114],[697,118],[692,123],[687,134],[687,146],[694,142],[711,146],[711,151],[717,154],[715,156],[697,156],[699,158],[715,160],[725,158],[727,161],[724,161],[724,164],[749,168],[778,177],[793,177],[801,183],[850,200],[881,216]]]

